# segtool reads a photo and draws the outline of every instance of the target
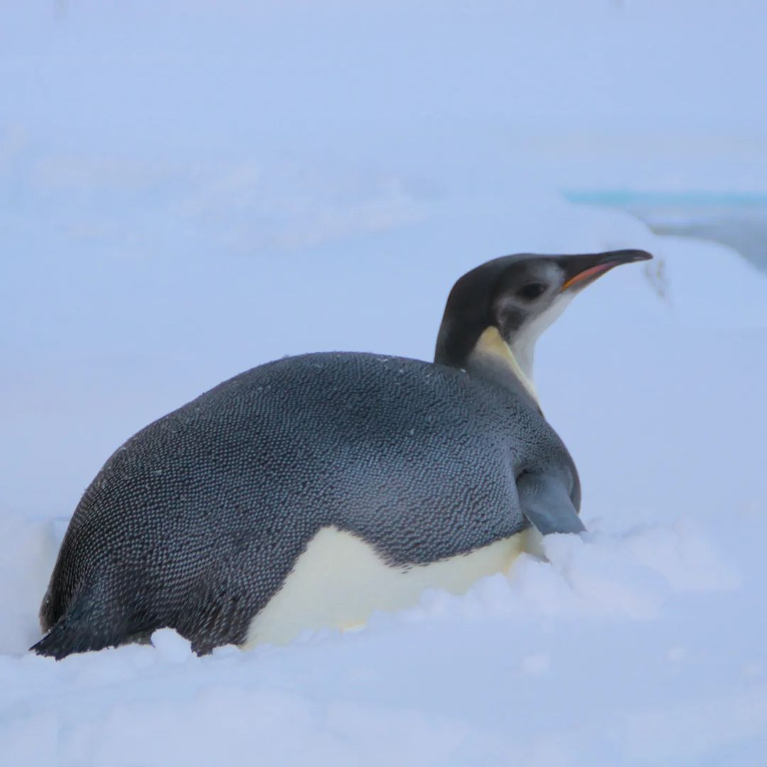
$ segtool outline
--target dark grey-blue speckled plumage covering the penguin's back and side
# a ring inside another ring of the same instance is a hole
[[[159,627],[197,652],[241,644],[322,528],[397,568],[475,551],[530,520],[556,530],[560,502],[577,530],[567,449],[525,386],[482,360],[288,357],[146,426],[77,506],[33,649],[64,657]],[[538,522],[551,508],[554,522]]]

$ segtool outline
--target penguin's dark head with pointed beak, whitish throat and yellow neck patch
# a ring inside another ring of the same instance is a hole
[[[453,286],[434,361],[469,370],[507,367],[532,397],[535,341],[574,295],[620,264],[645,261],[642,250],[586,255],[518,254],[495,258]]]

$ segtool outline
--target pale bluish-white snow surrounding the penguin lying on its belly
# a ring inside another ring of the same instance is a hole
[[[763,193],[762,3],[55,8],[0,11],[0,763],[762,763],[767,278],[565,199]],[[284,354],[429,358],[479,262],[621,247],[657,259],[538,344],[589,531],[548,563],[288,647],[26,653],[141,426]]]

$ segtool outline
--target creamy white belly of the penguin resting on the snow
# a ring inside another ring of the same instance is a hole
[[[427,588],[463,594],[479,578],[508,571],[522,551],[535,550],[536,535],[526,530],[469,554],[393,568],[360,538],[322,528],[255,616],[242,646],[287,644],[305,629],[362,626],[374,611],[413,607]]]

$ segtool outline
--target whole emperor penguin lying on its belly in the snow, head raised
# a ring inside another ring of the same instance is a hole
[[[67,528],[37,653],[172,627],[197,653],[287,643],[465,592],[532,538],[579,533],[573,460],[542,414],[535,341],[640,250],[509,255],[449,294],[433,362],[286,357],[150,423]]]

